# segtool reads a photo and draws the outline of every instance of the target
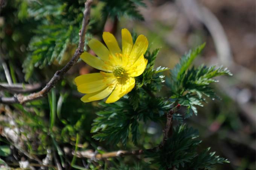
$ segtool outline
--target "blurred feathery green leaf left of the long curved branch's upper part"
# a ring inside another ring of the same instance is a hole
[[[26,80],[34,66],[43,68],[52,63],[62,64],[72,57],[78,42],[83,6],[69,1],[30,1],[28,15],[38,22],[35,36],[29,43],[30,55],[23,63]],[[76,19],[74,19],[76,18]]]

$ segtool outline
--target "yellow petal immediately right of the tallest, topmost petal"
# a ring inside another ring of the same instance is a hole
[[[133,65],[133,63],[137,61],[141,55],[145,54],[147,49],[148,49],[148,39],[143,35],[139,35],[136,42],[133,45],[133,49],[129,57],[130,58],[129,65]]]

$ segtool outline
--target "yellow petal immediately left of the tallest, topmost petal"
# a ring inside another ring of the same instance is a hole
[[[116,53],[121,53],[116,38],[113,36],[113,34],[104,32],[102,37],[112,56],[115,56]]]

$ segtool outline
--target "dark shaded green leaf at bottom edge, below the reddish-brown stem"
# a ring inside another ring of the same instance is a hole
[[[186,162],[197,155],[196,147],[201,142],[198,138],[198,131],[180,124],[173,131],[172,136],[166,141],[163,148],[156,152],[146,152],[147,157],[154,159],[152,163],[160,164],[160,169],[171,167],[184,167]]]

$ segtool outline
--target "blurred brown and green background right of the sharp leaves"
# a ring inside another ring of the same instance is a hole
[[[120,22],[120,27],[145,33],[154,48],[161,47],[158,66],[173,67],[178,58],[203,42],[196,64],[228,67],[231,77],[218,78],[222,100],[209,100],[189,119],[204,146],[211,146],[230,164],[217,169],[255,169],[255,42],[253,0],[157,0],[141,8],[145,22]]]

